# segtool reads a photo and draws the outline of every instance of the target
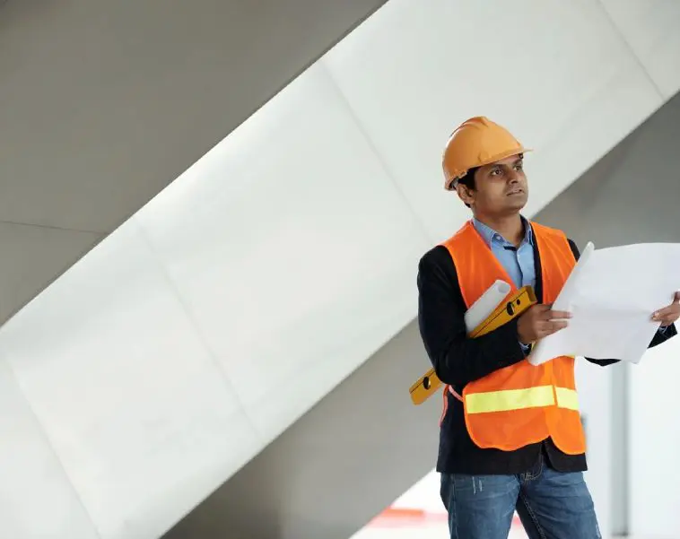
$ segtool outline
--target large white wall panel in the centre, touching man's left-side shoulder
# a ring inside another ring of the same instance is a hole
[[[414,316],[429,241],[318,65],[136,219],[266,439]]]

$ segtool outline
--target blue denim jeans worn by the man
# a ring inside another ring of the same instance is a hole
[[[530,539],[600,539],[583,474],[561,474],[542,457],[519,475],[441,475],[451,539],[507,539],[515,510]]]

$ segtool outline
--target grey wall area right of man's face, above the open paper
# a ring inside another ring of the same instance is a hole
[[[536,214],[583,248],[677,241],[680,94]],[[550,178],[529,178],[547,181]]]

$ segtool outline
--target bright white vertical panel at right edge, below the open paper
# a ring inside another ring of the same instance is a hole
[[[630,368],[628,447],[631,535],[676,539],[680,536],[680,426],[677,380],[680,337],[649,350]]]

